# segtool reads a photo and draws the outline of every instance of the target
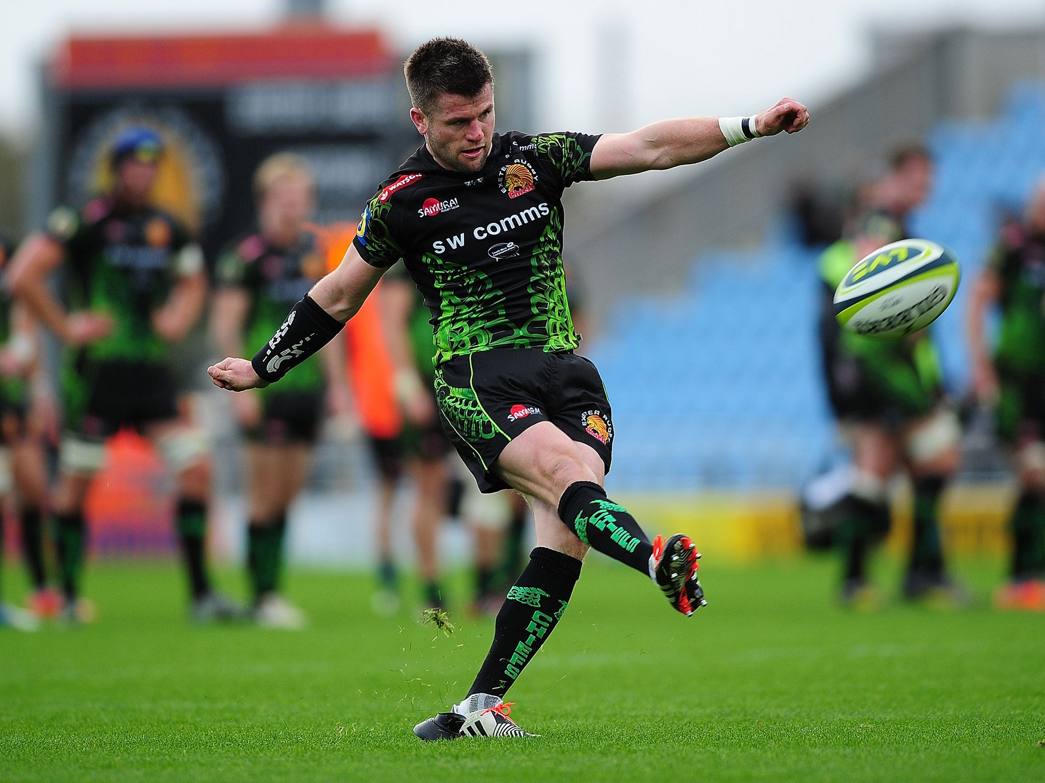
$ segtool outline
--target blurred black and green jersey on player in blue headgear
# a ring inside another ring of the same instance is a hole
[[[90,361],[154,362],[167,343],[153,330],[179,278],[203,269],[203,253],[188,230],[156,207],[125,209],[101,197],[76,211],[60,207],[47,231],[65,248],[64,292],[71,310],[112,316],[113,333],[86,346]]]

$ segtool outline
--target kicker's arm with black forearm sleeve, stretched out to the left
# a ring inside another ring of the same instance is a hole
[[[349,245],[338,268],[312,286],[269,340],[269,356],[262,372],[272,373],[270,378],[275,380],[326,345],[336,329],[355,315],[384,274],[385,269],[368,264]],[[230,357],[207,372],[215,386],[233,392],[259,388],[271,382],[258,375],[250,359]]]

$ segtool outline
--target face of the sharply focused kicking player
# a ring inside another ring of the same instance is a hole
[[[443,93],[429,114],[411,109],[410,118],[441,166],[474,173],[486,165],[493,146],[493,86],[472,98]]]

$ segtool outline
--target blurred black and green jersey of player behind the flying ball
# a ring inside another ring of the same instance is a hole
[[[863,216],[856,234],[887,244],[905,238],[908,232],[901,218],[877,210]],[[895,409],[904,416],[929,413],[939,400],[943,379],[939,357],[928,330],[886,339],[857,334],[838,325],[834,293],[859,260],[856,244],[849,239],[838,240],[820,256],[823,302],[820,340],[832,404],[839,416],[869,414],[873,408]],[[852,377],[849,383],[844,377],[854,373],[844,371],[846,366],[858,367],[858,378]]]

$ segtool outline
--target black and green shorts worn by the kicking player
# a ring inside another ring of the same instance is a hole
[[[455,356],[436,370],[435,388],[443,428],[484,493],[508,489],[493,464],[512,438],[538,422],[594,448],[609,472],[609,401],[599,371],[583,356],[539,348]]]

